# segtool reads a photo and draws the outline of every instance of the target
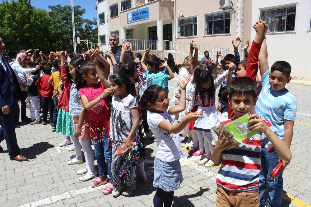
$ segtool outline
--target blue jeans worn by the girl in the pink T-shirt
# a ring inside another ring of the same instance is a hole
[[[113,181],[114,177],[111,173],[112,152],[108,141],[108,131],[106,131],[104,140],[93,144],[99,175],[101,177],[107,176],[106,161],[108,165],[109,181]]]

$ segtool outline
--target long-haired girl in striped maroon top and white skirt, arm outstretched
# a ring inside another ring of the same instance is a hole
[[[225,80],[225,77],[232,73],[233,70],[225,71],[223,74],[217,77],[214,81],[212,74],[209,71],[202,71],[195,77],[195,91],[188,105],[186,114],[190,113],[194,104],[198,101],[198,112],[201,112],[204,119],[199,119],[194,123],[194,130],[198,132],[199,143],[204,142],[204,149],[198,149],[195,153],[196,156],[204,154],[205,158],[200,160],[198,165],[204,165],[204,167],[214,166],[213,161],[210,160],[211,152],[214,150],[211,136],[211,127],[216,126],[217,110],[215,107],[215,94],[217,87]],[[204,141],[203,141],[204,140]]]

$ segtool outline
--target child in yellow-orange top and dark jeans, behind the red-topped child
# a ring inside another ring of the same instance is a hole
[[[58,89],[58,83],[61,79],[59,71],[58,71],[58,62],[57,60],[55,60],[53,62],[53,67],[55,69],[55,71],[53,72],[53,74],[51,75],[50,79],[49,79],[49,84],[52,84],[54,87],[53,93],[55,95],[55,93],[57,93],[57,89]],[[58,99],[54,98],[54,113],[53,113],[53,123],[52,123],[52,131],[56,131],[56,122],[57,122],[57,115],[58,115]]]

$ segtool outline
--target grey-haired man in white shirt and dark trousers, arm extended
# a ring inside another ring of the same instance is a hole
[[[26,116],[26,102],[25,100],[27,99],[27,91],[24,87],[24,81],[26,80],[26,75],[27,73],[34,72],[40,68],[40,65],[38,65],[35,68],[23,68],[22,66],[26,65],[26,59],[27,56],[25,53],[18,53],[16,55],[16,60],[14,62],[10,63],[10,66],[12,67],[18,83],[20,84],[21,88],[21,95],[20,95],[20,100],[21,100],[21,121],[22,122],[30,122],[30,118]],[[32,120],[34,121],[34,120]]]

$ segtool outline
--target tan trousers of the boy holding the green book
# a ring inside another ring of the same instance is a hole
[[[228,191],[217,187],[216,207],[258,207],[259,189],[253,191]]]

